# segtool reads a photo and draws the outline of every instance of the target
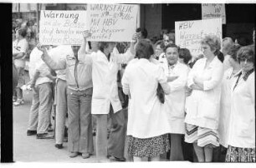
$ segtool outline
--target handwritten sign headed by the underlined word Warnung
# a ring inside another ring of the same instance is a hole
[[[81,45],[86,11],[42,10],[39,26],[39,42],[44,45]]]

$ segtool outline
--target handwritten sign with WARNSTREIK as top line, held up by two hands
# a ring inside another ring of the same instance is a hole
[[[138,7],[127,4],[88,4],[89,41],[130,42],[136,32]]]

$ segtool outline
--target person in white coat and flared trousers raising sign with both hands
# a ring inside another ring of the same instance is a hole
[[[91,36],[84,31],[86,38]],[[125,161],[125,115],[118,96],[117,72],[119,64],[127,63],[135,57],[134,45],[137,39],[132,37],[131,47],[124,54],[113,53],[115,42],[99,42],[99,50],[90,55],[85,54],[85,45],[79,51],[79,62],[92,66],[94,91],[92,95],[91,113],[96,116],[96,156],[101,161],[108,161],[114,156],[117,161]],[[111,117],[111,131],[107,140],[107,115]]]

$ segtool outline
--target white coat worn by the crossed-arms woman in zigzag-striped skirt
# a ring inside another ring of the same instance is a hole
[[[218,129],[218,116],[223,80],[223,63],[214,57],[205,69],[207,58],[199,59],[187,77],[187,86],[192,86],[193,77],[201,77],[203,91],[193,90],[187,99],[187,116],[185,122],[210,129]]]

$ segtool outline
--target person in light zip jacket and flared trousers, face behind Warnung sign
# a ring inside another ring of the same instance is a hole
[[[66,57],[59,62],[49,57],[48,52],[41,44],[38,49],[44,54],[43,61],[53,70],[66,70],[66,82],[68,86],[68,144],[69,157],[76,157],[79,153],[84,159],[89,158],[94,151],[92,122],[91,122],[91,96],[93,92],[91,66],[79,62],[80,46],[71,46]]]

